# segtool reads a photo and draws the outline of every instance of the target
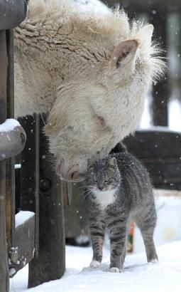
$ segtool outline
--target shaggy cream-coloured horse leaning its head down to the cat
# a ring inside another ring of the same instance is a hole
[[[48,113],[57,173],[79,181],[88,158],[105,157],[136,129],[163,62],[151,24],[129,24],[118,10],[82,14],[63,3],[30,0],[15,29],[15,111]]]

